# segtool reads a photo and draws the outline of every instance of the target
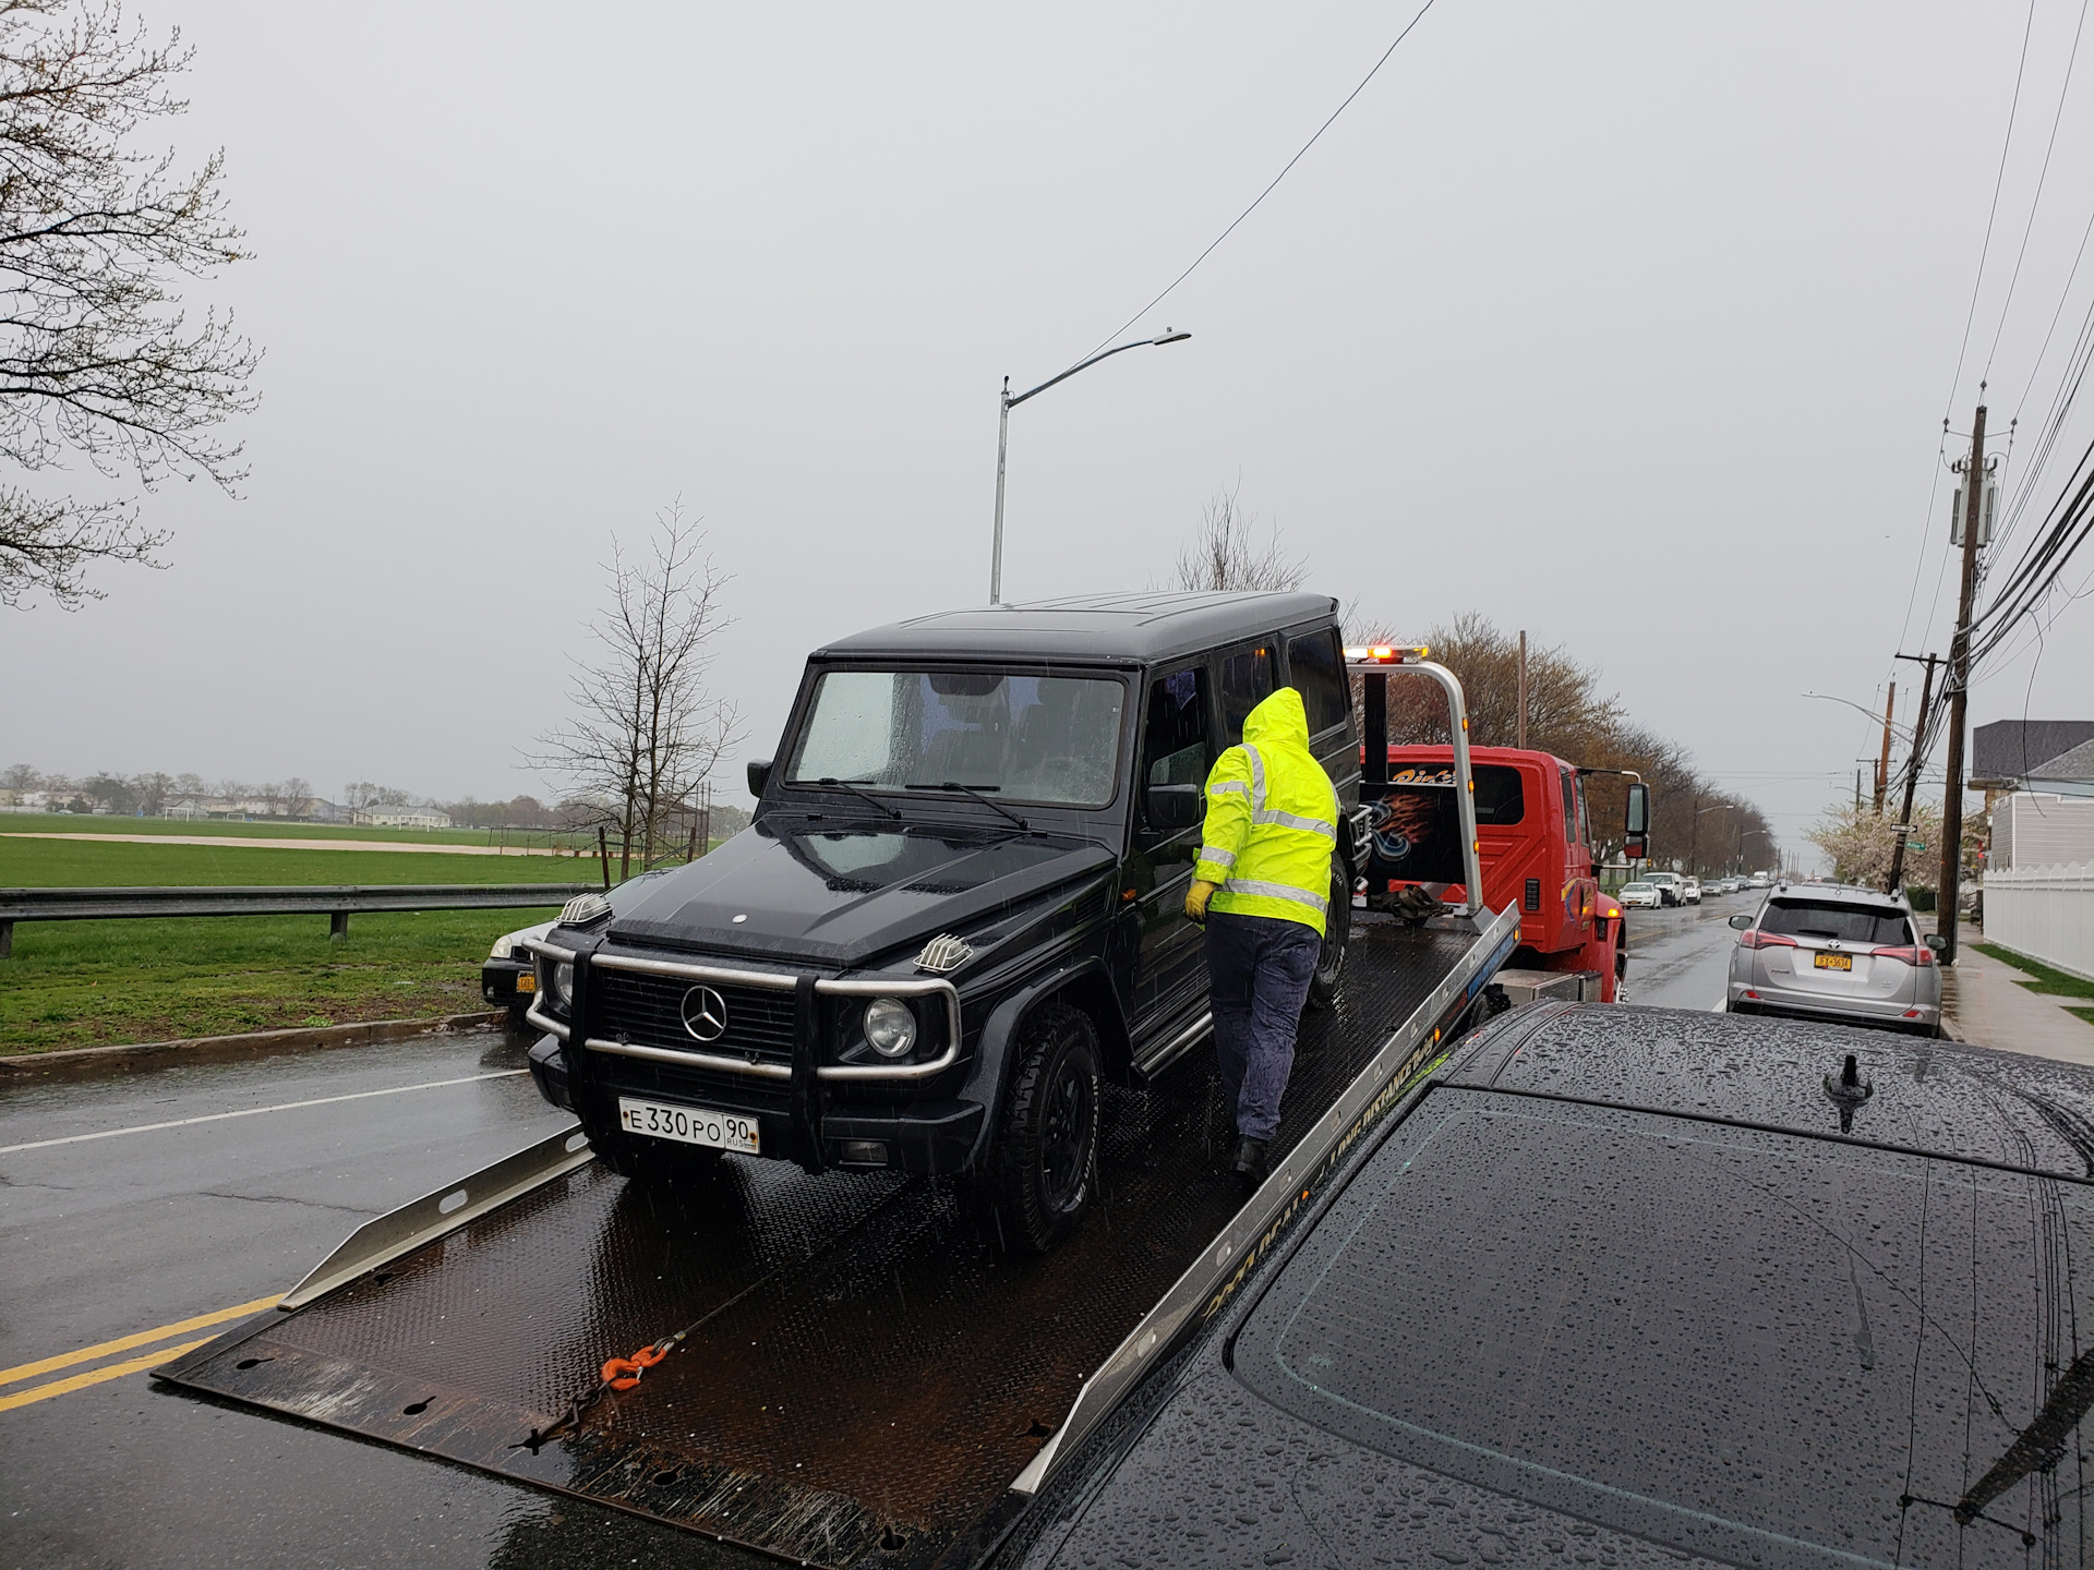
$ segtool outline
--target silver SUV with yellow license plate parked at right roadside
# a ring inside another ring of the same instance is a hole
[[[1736,915],[1730,1013],[1780,1013],[1941,1034],[1941,969],[1903,896],[1839,883],[1776,883]]]

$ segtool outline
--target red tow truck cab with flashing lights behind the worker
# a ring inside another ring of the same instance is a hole
[[[1514,973],[1583,975],[1575,996],[1612,1003],[1629,963],[1627,923],[1621,900],[1600,890],[1585,781],[1617,770],[1579,768],[1547,752],[1470,747],[1457,687],[1449,689],[1453,745],[1390,745],[1388,676],[1434,676],[1441,668],[1426,655],[1424,647],[1346,649],[1363,710],[1357,894],[1369,909],[1420,919],[1472,904],[1468,890],[1480,879],[1483,909],[1520,909]],[[1627,854],[1644,854],[1648,825],[1650,787],[1631,777]]]

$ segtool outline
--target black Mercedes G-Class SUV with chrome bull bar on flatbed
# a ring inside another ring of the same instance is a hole
[[[1208,1034],[1183,915],[1202,787],[1275,687],[1351,810],[1321,595],[1095,595],[819,649],[777,762],[748,766],[752,825],[532,944],[538,1089],[626,1176],[722,1151],[957,1172],[1007,1243],[1051,1248],[1097,1187],[1099,1082]],[[1344,961],[1351,854],[1313,1001]]]

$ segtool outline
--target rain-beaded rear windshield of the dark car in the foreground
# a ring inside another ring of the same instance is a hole
[[[1439,1089],[1231,1363],[1355,1444],[1725,1564],[2079,1564],[2090,1248],[2086,1183]]]

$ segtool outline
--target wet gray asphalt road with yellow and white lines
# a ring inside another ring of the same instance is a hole
[[[1723,919],[1757,898],[1633,913],[1629,1001],[1719,1003]],[[718,1564],[666,1526],[147,1380],[216,1323],[17,1373],[272,1298],[366,1218],[565,1126],[521,1063],[484,1034],[0,1091],[0,1562]]]

